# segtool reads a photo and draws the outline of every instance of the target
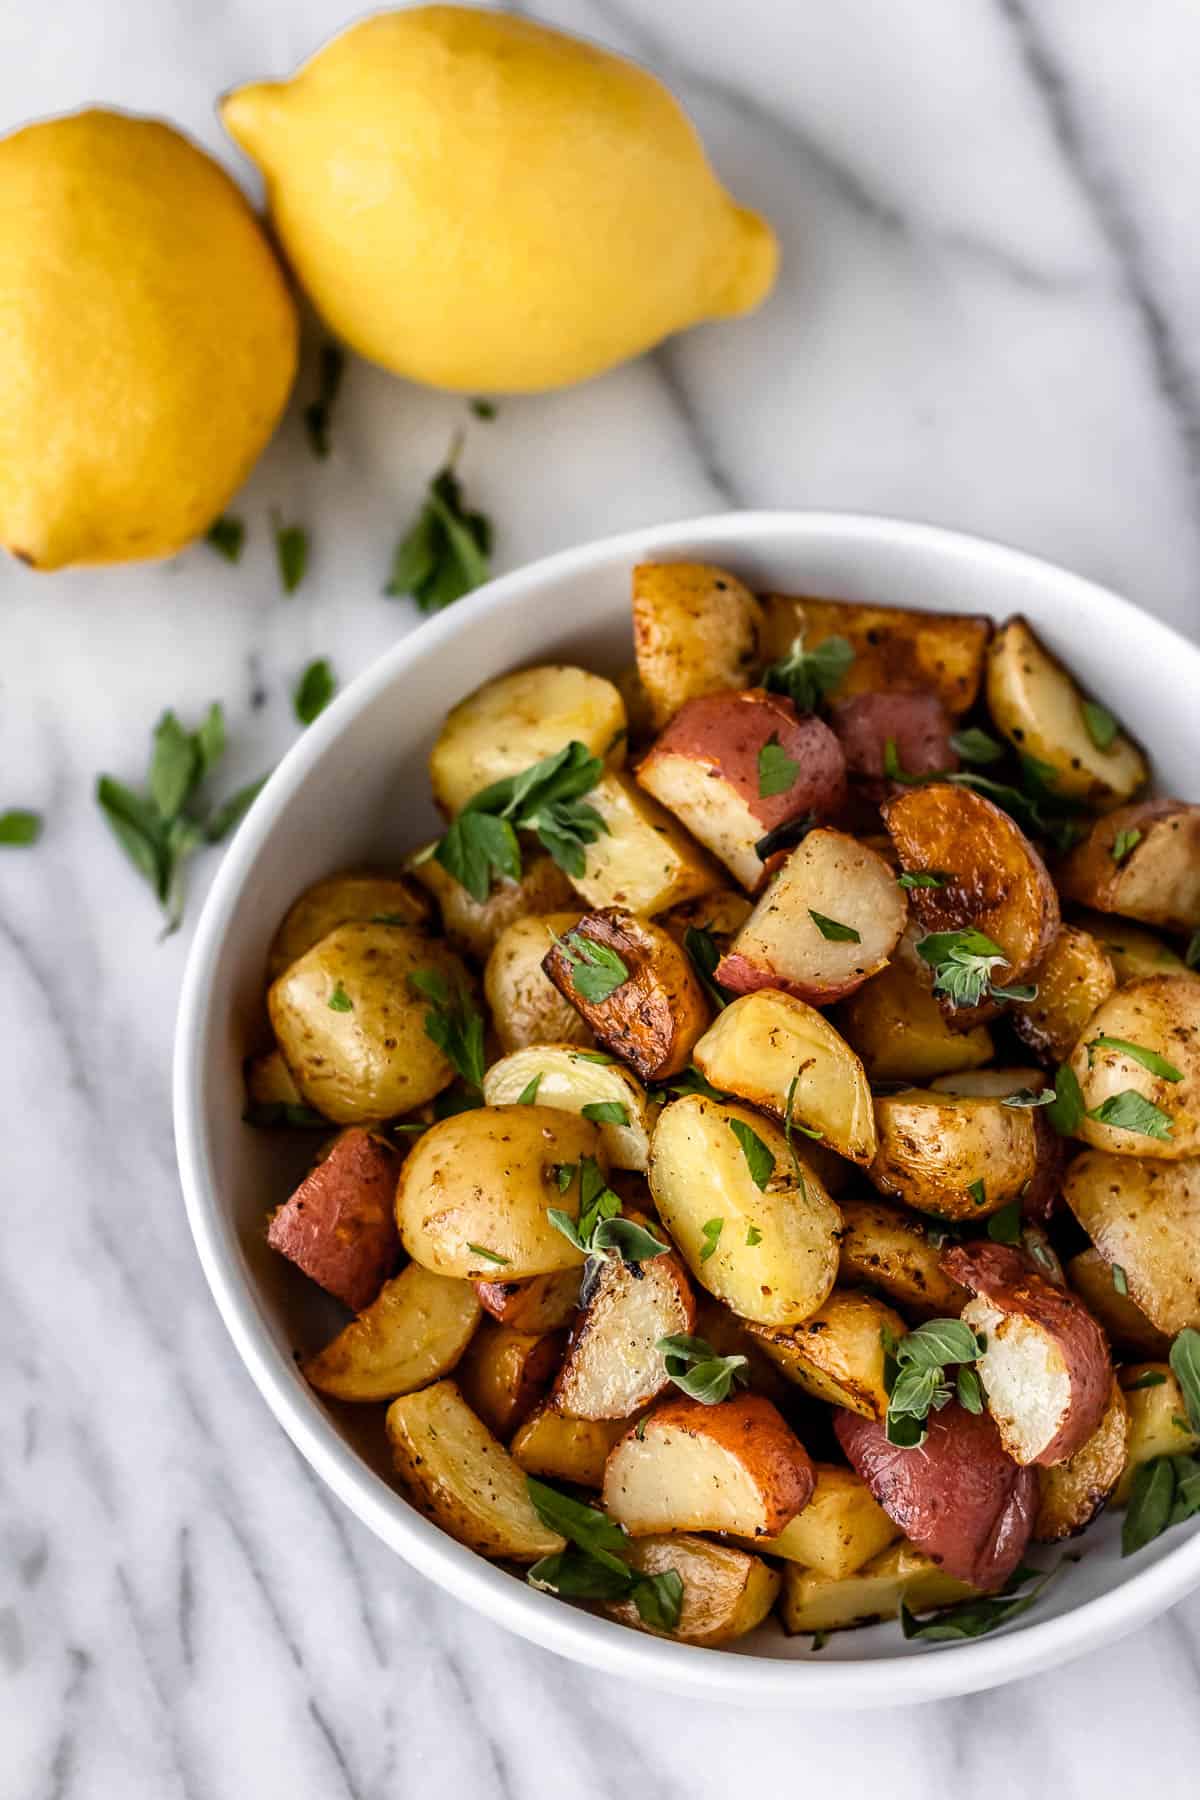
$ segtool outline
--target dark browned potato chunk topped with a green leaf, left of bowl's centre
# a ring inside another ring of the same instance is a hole
[[[619,907],[585,913],[542,967],[599,1042],[644,1082],[687,1067],[709,1003],[689,958],[660,925]]]

